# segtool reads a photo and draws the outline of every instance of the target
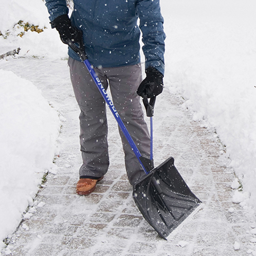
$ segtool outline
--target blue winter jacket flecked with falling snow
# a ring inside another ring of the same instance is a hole
[[[46,7],[50,21],[68,14],[66,0],[46,0]],[[164,73],[166,35],[159,0],[74,0],[71,22],[83,31],[85,51],[94,66],[138,64],[141,30],[145,68],[153,66]],[[68,54],[80,61],[71,49]]]

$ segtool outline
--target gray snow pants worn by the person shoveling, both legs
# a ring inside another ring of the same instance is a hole
[[[106,105],[84,63],[68,59],[71,83],[81,109],[80,144],[83,164],[80,178],[100,178],[109,166]],[[141,155],[150,156],[150,136],[136,90],[142,81],[140,64],[94,68],[102,85],[111,90],[113,103]],[[131,185],[145,175],[130,144],[119,129],[125,155],[125,168]]]

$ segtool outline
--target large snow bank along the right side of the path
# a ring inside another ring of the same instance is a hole
[[[167,8],[169,7],[169,9]],[[162,1],[166,87],[216,129],[256,210],[256,3]]]

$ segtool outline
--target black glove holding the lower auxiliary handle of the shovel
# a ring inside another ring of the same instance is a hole
[[[143,95],[147,95],[148,98],[152,98],[162,92],[163,75],[154,67],[148,67],[145,72],[147,76],[140,83],[137,94],[141,97],[143,97]]]

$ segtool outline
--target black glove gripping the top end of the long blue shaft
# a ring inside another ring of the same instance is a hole
[[[51,22],[51,27],[56,28],[60,34],[61,41],[67,44],[67,40],[80,43],[83,39],[83,32],[73,27],[67,14],[58,16]]]

